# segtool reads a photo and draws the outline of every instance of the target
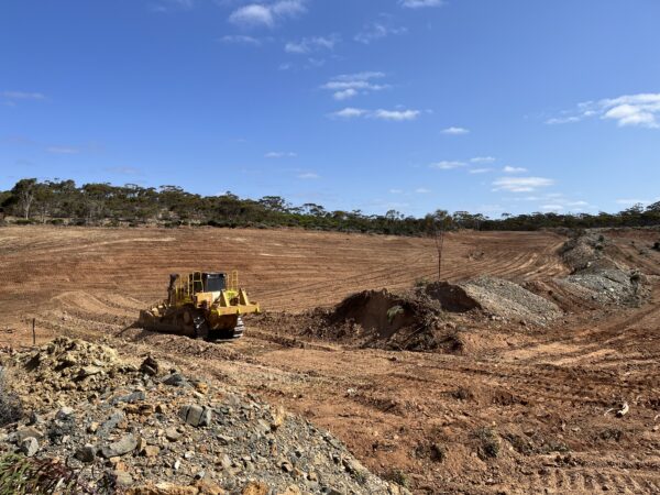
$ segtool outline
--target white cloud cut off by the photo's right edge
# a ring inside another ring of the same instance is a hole
[[[624,95],[598,101],[585,101],[572,112],[548,119],[548,124],[580,122],[590,117],[614,120],[619,128],[638,127],[660,129],[660,92]]]

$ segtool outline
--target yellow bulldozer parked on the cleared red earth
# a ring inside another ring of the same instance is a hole
[[[169,275],[167,299],[140,311],[138,326],[195,339],[229,340],[243,336],[242,315],[261,312],[239,288],[239,274],[194,272]]]

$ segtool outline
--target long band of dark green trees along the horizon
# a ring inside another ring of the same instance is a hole
[[[200,196],[178,186],[113,186],[74,180],[25,178],[13,188],[0,191],[0,218],[15,223],[76,226],[213,226],[213,227],[297,227],[315,230],[369,232],[396,235],[429,235],[439,229],[538,230],[543,228],[587,229],[597,227],[648,227],[660,224],[660,201],[636,205],[617,213],[560,215],[534,212],[503,213],[492,219],[480,213],[436,210],[422,218],[396,210],[385,215],[364,215],[360,210],[326,210],[321,205],[293,206],[279,196],[243,199],[226,193]]]

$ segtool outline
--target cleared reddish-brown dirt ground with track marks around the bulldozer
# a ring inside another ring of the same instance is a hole
[[[0,229],[0,345],[58,333],[167,356],[302,414],[372,471],[416,493],[660,493],[660,234],[607,232],[613,258],[651,275],[639,308],[575,302],[548,328],[474,326],[462,354],[358,349],[246,321],[206,343],[125,329],[168,274],[239,270],[285,318],[363,289],[437,277],[430,240],[219,229]],[[442,277],[564,276],[565,238],[451,233]],[[554,286],[553,286],[554,287]],[[286,312],[286,315],[283,315]],[[629,413],[618,418],[623,402]]]

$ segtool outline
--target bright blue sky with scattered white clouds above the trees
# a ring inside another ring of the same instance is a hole
[[[660,199],[657,0],[3,0],[0,188],[420,216]]]

